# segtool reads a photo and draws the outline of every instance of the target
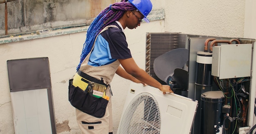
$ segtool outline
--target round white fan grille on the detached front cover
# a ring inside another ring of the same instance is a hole
[[[160,112],[153,95],[149,93],[141,93],[132,99],[121,119],[119,133],[160,133]]]

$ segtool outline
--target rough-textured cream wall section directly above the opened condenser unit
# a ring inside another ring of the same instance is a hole
[[[243,37],[245,0],[166,0],[165,31]]]

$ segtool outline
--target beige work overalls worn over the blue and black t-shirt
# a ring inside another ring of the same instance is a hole
[[[107,30],[109,27],[118,28],[117,26],[107,26],[101,32]],[[101,32],[99,34],[101,34]],[[95,41],[94,41],[94,44],[95,44]],[[80,70],[88,74],[89,76],[97,78],[98,80],[103,79],[103,82],[107,85],[110,84],[110,82],[112,81],[112,78],[115,75],[115,72],[117,71],[117,68],[120,65],[119,61],[117,60],[108,65],[94,67],[94,66],[88,65],[91,52],[85,57],[83,63],[81,64]],[[79,86],[81,89],[85,89],[86,88],[85,86],[87,86],[87,83],[84,82],[83,84],[83,82],[81,82],[81,76],[79,76],[76,73],[76,75],[74,76],[73,85]],[[113,132],[112,104],[111,104],[112,93],[110,93],[110,86],[108,86],[106,89],[106,95],[108,95],[110,98],[106,108],[106,113],[102,118],[93,117],[91,115],[88,115],[76,109],[76,120],[83,134],[109,134],[109,132]]]

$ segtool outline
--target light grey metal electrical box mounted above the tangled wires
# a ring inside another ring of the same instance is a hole
[[[220,79],[249,77],[252,44],[222,44],[214,46],[211,75]]]

